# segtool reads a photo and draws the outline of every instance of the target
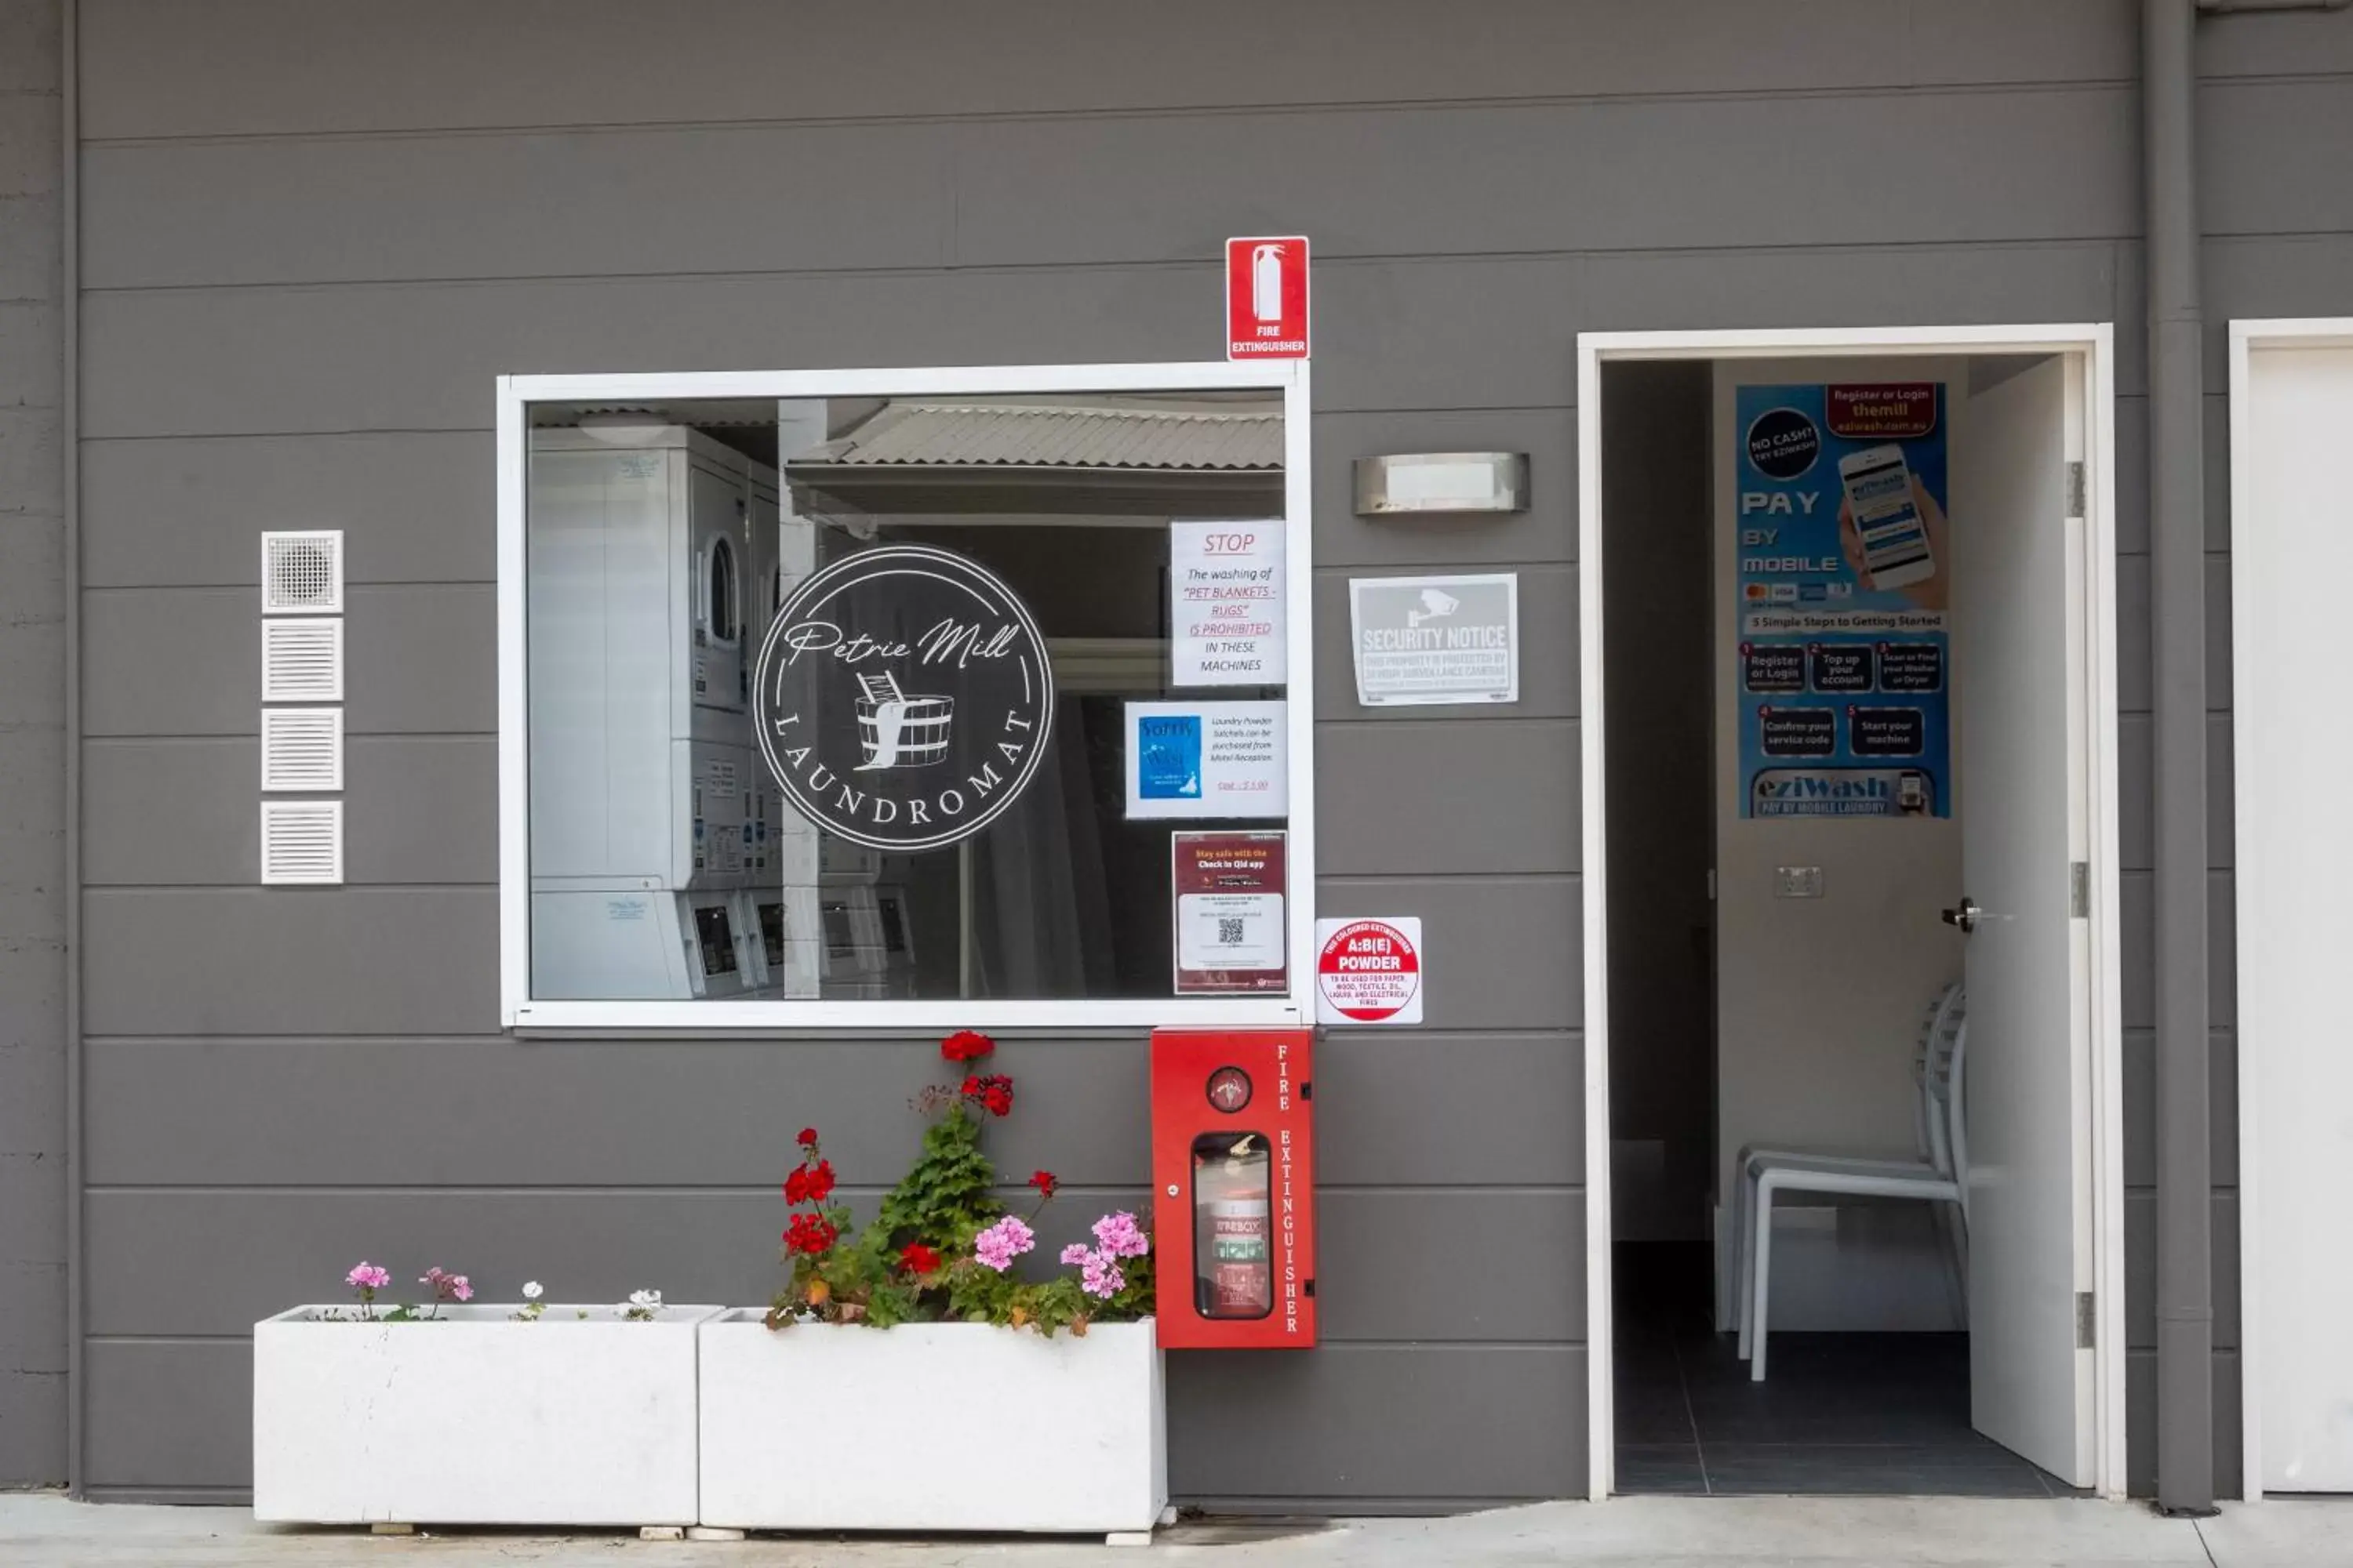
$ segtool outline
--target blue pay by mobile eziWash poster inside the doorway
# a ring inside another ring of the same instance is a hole
[[[1944,383],[1734,407],[1741,816],[1951,816]]]

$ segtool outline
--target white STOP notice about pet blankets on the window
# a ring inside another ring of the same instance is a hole
[[[1282,524],[1169,524],[1169,684],[1280,686]]]

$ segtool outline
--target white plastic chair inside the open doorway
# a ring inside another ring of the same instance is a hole
[[[1920,1084],[1913,1110],[1915,1159],[1741,1150],[1734,1192],[1741,1281],[1734,1309],[1741,1331],[1739,1354],[1741,1361],[1748,1361],[1751,1382],[1765,1382],[1765,1307],[1772,1300],[1772,1204],[1777,1192],[1953,1204],[1960,1215],[1960,1234],[1967,1234],[1969,1140],[1962,1117],[1967,1046],[1969,1006],[1960,980],[1955,980],[1929,1004],[1920,1027],[1920,1051],[1913,1058],[1913,1077]]]

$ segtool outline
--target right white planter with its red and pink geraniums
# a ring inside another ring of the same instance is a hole
[[[1031,1220],[981,1147],[1014,1084],[960,1030],[915,1105],[922,1154],[864,1229],[802,1128],[784,1182],[791,1276],[701,1326],[701,1514],[769,1530],[1151,1530],[1167,1505],[1151,1237],[1132,1213],[1033,1272]]]

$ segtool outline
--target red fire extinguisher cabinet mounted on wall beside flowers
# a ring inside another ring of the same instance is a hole
[[[1313,1030],[1153,1032],[1160,1345],[1315,1342]]]

